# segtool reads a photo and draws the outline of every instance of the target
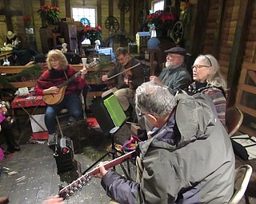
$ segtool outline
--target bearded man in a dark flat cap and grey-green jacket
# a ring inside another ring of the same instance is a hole
[[[192,82],[190,73],[186,70],[184,63],[186,49],[174,47],[167,49],[165,53],[167,53],[166,68],[162,69],[158,77],[150,76],[150,81],[153,81],[161,87],[168,88],[169,92],[175,96],[179,89],[187,88]],[[147,137],[150,137],[149,131],[151,131],[153,127],[148,120],[140,116],[138,108],[136,108],[136,115],[140,128],[142,128]],[[142,135],[142,137],[145,137],[145,135]]]

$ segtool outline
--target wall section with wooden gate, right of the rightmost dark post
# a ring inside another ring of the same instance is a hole
[[[252,2],[252,14],[248,18],[248,30],[242,72],[238,84],[236,106],[243,112],[243,122],[240,131],[248,135],[256,135],[256,2]]]

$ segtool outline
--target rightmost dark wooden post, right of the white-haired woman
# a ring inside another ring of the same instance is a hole
[[[228,107],[235,104],[238,91],[238,80],[242,69],[242,57],[244,55],[244,47],[246,45],[246,35],[248,24],[251,18],[253,2],[244,0],[240,2],[238,12],[238,22],[234,33],[234,43],[230,55],[230,65],[227,73],[227,84],[230,87],[230,96],[228,99]]]

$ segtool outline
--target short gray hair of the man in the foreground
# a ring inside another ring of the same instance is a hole
[[[136,89],[135,103],[142,113],[151,113],[160,118],[170,115],[177,105],[175,97],[166,87],[151,81]]]

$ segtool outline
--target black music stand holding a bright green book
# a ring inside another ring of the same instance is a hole
[[[103,97],[100,100],[94,102],[94,104],[90,104],[90,109],[93,112],[95,118],[98,120],[99,126],[102,128],[102,132],[110,135],[111,137],[111,149],[107,151],[105,155],[102,155],[100,159],[98,159],[95,163],[93,163],[90,167],[86,169],[82,174],[86,174],[92,167],[98,164],[102,159],[104,159],[107,155],[112,155],[112,159],[118,157],[118,153],[123,155],[122,151],[118,151],[118,149],[114,146],[114,135],[122,128],[123,124],[126,124],[126,114],[123,112],[121,105],[118,103],[117,98],[110,93],[106,97]],[[117,125],[118,124],[118,125]],[[122,171],[126,175],[127,179],[130,179],[130,167],[129,162],[128,165],[128,172],[123,167],[122,163],[120,166],[122,167]],[[115,171],[115,167],[113,167]]]

